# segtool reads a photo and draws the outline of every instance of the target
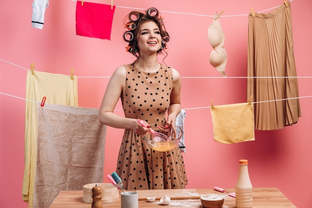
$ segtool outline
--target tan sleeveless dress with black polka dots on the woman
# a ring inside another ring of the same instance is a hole
[[[171,68],[161,65],[155,73],[138,71],[126,65],[125,91],[121,96],[126,117],[142,119],[151,125],[165,122],[172,86]],[[158,152],[142,135],[125,129],[116,173],[125,189],[184,189],[187,185],[183,157],[179,147]]]

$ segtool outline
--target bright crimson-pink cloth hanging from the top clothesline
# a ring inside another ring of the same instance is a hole
[[[76,34],[110,40],[115,7],[77,0]]]

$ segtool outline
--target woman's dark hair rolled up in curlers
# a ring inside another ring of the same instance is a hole
[[[161,47],[157,51],[157,54],[162,53],[164,51],[163,49],[166,47],[166,43],[169,41],[169,34],[165,30],[163,20],[161,16],[159,16],[159,12],[156,8],[149,8],[146,10],[145,13],[139,12],[139,11],[132,11],[125,17],[125,28],[128,28],[129,30],[124,32],[124,40],[129,43],[129,45],[126,47],[127,51],[133,54],[137,60],[134,61],[134,63],[137,63],[139,61],[139,55],[140,49],[138,47],[138,39],[137,35],[139,33],[139,28],[142,23],[148,22],[148,21],[154,21],[160,31],[160,35],[162,38],[161,41]],[[167,56],[166,51],[164,51]],[[165,58],[164,57],[164,58]]]

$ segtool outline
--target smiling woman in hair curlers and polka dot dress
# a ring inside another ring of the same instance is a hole
[[[181,110],[180,75],[157,60],[169,40],[158,15],[156,8],[145,14],[130,12],[124,40],[129,42],[127,51],[137,59],[114,72],[99,110],[101,123],[125,129],[116,173],[128,190],[184,189],[187,185],[180,148],[160,152],[144,141],[145,134],[151,137],[151,127],[160,123],[166,127],[157,129],[174,130],[175,118]],[[114,113],[119,98],[125,117]],[[144,124],[138,123],[138,119]]]

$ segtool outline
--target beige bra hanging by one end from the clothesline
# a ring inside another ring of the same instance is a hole
[[[224,70],[227,62],[227,54],[223,47],[224,33],[219,18],[213,18],[208,28],[208,40],[213,48],[210,53],[209,62],[223,77],[226,77]]]

